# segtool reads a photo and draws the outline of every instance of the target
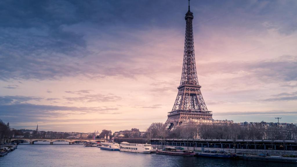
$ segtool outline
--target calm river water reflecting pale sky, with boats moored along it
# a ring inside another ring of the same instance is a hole
[[[39,142],[40,143],[40,142]],[[0,157],[1,167],[291,167],[296,164],[221,160],[100,150],[82,145],[20,144]]]

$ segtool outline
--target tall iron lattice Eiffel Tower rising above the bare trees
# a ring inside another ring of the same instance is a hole
[[[165,122],[168,130],[173,127],[185,124],[189,120],[213,120],[212,111],[208,111],[198,83],[194,37],[193,37],[193,13],[189,10],[186,13],[186,35],[184,46],[183,70],[181,72],[181,83],[178,86],[178,93],[172,111],[168,112],[168,119]]]

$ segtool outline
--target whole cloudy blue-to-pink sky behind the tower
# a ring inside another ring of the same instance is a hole
[[[297,1],[190,3],[213,118],[297,123]],[[0,1],[0,119],[67,132],[165,123],[187,10],[186,0]]]

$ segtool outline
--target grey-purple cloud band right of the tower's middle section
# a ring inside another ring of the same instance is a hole
[[[244,74],[264,82],[297,81],[297,56],[279,56],[277,59],[260,61],[211,62],[200,64],[200,75]]]

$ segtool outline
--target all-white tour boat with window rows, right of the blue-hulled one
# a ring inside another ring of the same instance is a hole
[[[154,151],[154,149],[151,146],[151,144],[135,144],[135,143],[128,143],[128,142],[121,142],[120,151],[151,153]]]

